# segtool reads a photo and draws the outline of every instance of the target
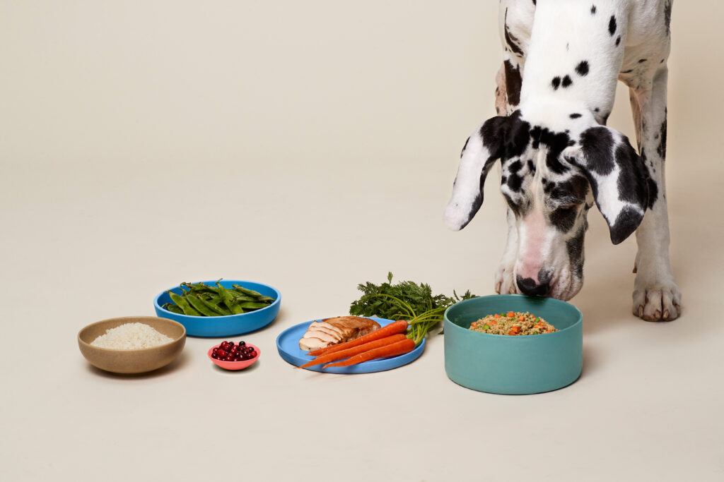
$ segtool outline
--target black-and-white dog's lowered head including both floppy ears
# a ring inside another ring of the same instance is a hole
[[[619,244],[644,218],[649,176],[628,138],[592,115],[551,119],[548,113],[547,119],[526,120],[518,109],[473,132],[460,155],[445,223],[457,231],[471,221],[500,159],[500,189],[518,239],[516,289],[568,300],[583,285],[588,210],[595,202]]]

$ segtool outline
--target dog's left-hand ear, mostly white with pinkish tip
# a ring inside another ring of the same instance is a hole
[[[483,184],[488,171],[502,157],[508,117],[488,119],[466,141],[460,167],[452,184],[452,197],[445,209],[445,224],[459,231],[470,223],[483,204]]]

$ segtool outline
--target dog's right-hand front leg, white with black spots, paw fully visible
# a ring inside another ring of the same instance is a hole
[[[681,292],[669,261],[669,218],[664,179],[666,157],[665,66],[654,74],[650,88],[631,86],[631,108],[639,152],[649,170],[649,209],[638,230],[633,314],[648,321],[675,319],[681,314]]]

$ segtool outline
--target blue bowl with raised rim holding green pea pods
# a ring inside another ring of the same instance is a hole
[[[206,285],[214,285],[216,280],[202,281]],[[232,337],[243,335],[266,327],[274,321],[279,314],[279,307],[282,306],[282,293],[277,288],[263,283],[244,280],[222,280],[220,284],[224,288],[232,288],[232,285],[242,285],[253,291],[258,291],[264,296],[275,298],[274,302],[265,308],[249,311],[248,313],[232,314],[226,317],[191,317],[187,314],[177,314],[161,306],[171,302],[167,291],[160,293],[153,298],[153,308],[159,318],[172,319],[179,322],[186,328],[186,335],[193,337]],[[170,291],[181,294],[180,286],[170,288]]]

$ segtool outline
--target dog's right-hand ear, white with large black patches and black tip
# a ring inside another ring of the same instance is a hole
[[[649,204],[649,171],[628,137],[610,127],[592,127],[563,155],[588,178],[613,244],[631,236]]]

